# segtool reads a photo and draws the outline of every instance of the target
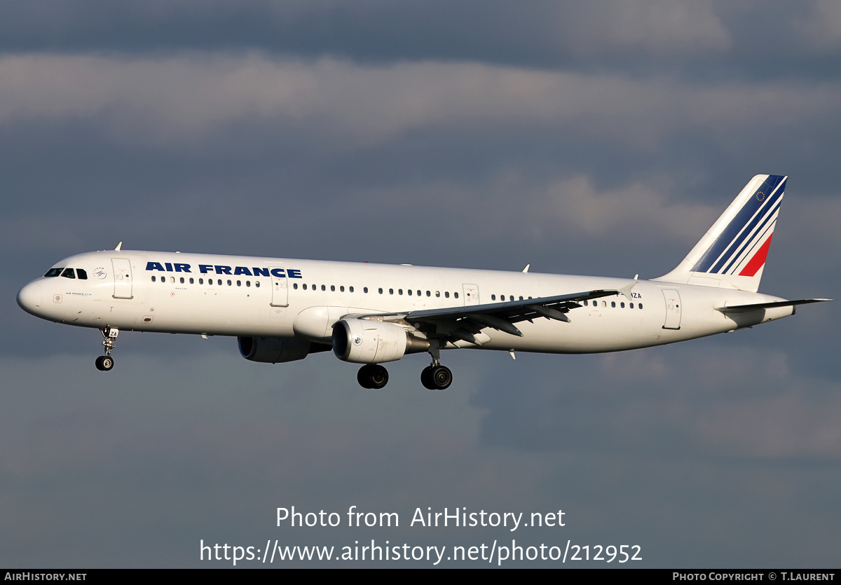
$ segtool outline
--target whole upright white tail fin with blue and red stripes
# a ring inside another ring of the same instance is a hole
[[[759,290],[786,179],[780,175],[751,179],[684,261],[653,280]]]

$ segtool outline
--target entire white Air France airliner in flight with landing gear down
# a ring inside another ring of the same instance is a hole
[[[674,270],[639,280],[523,271],[389,266],[181,252],[87,252],[18,292],[24,311],[99,329],[230,335],[250,361],[333,350],[362,364],[357,382],[389,381],[381,364],[428,353],[421,383],[443,390],[441,350],[583,354],[664,345],[753,327],[827,298],[761,294],[759,281],[788,177],[757,175]]]

